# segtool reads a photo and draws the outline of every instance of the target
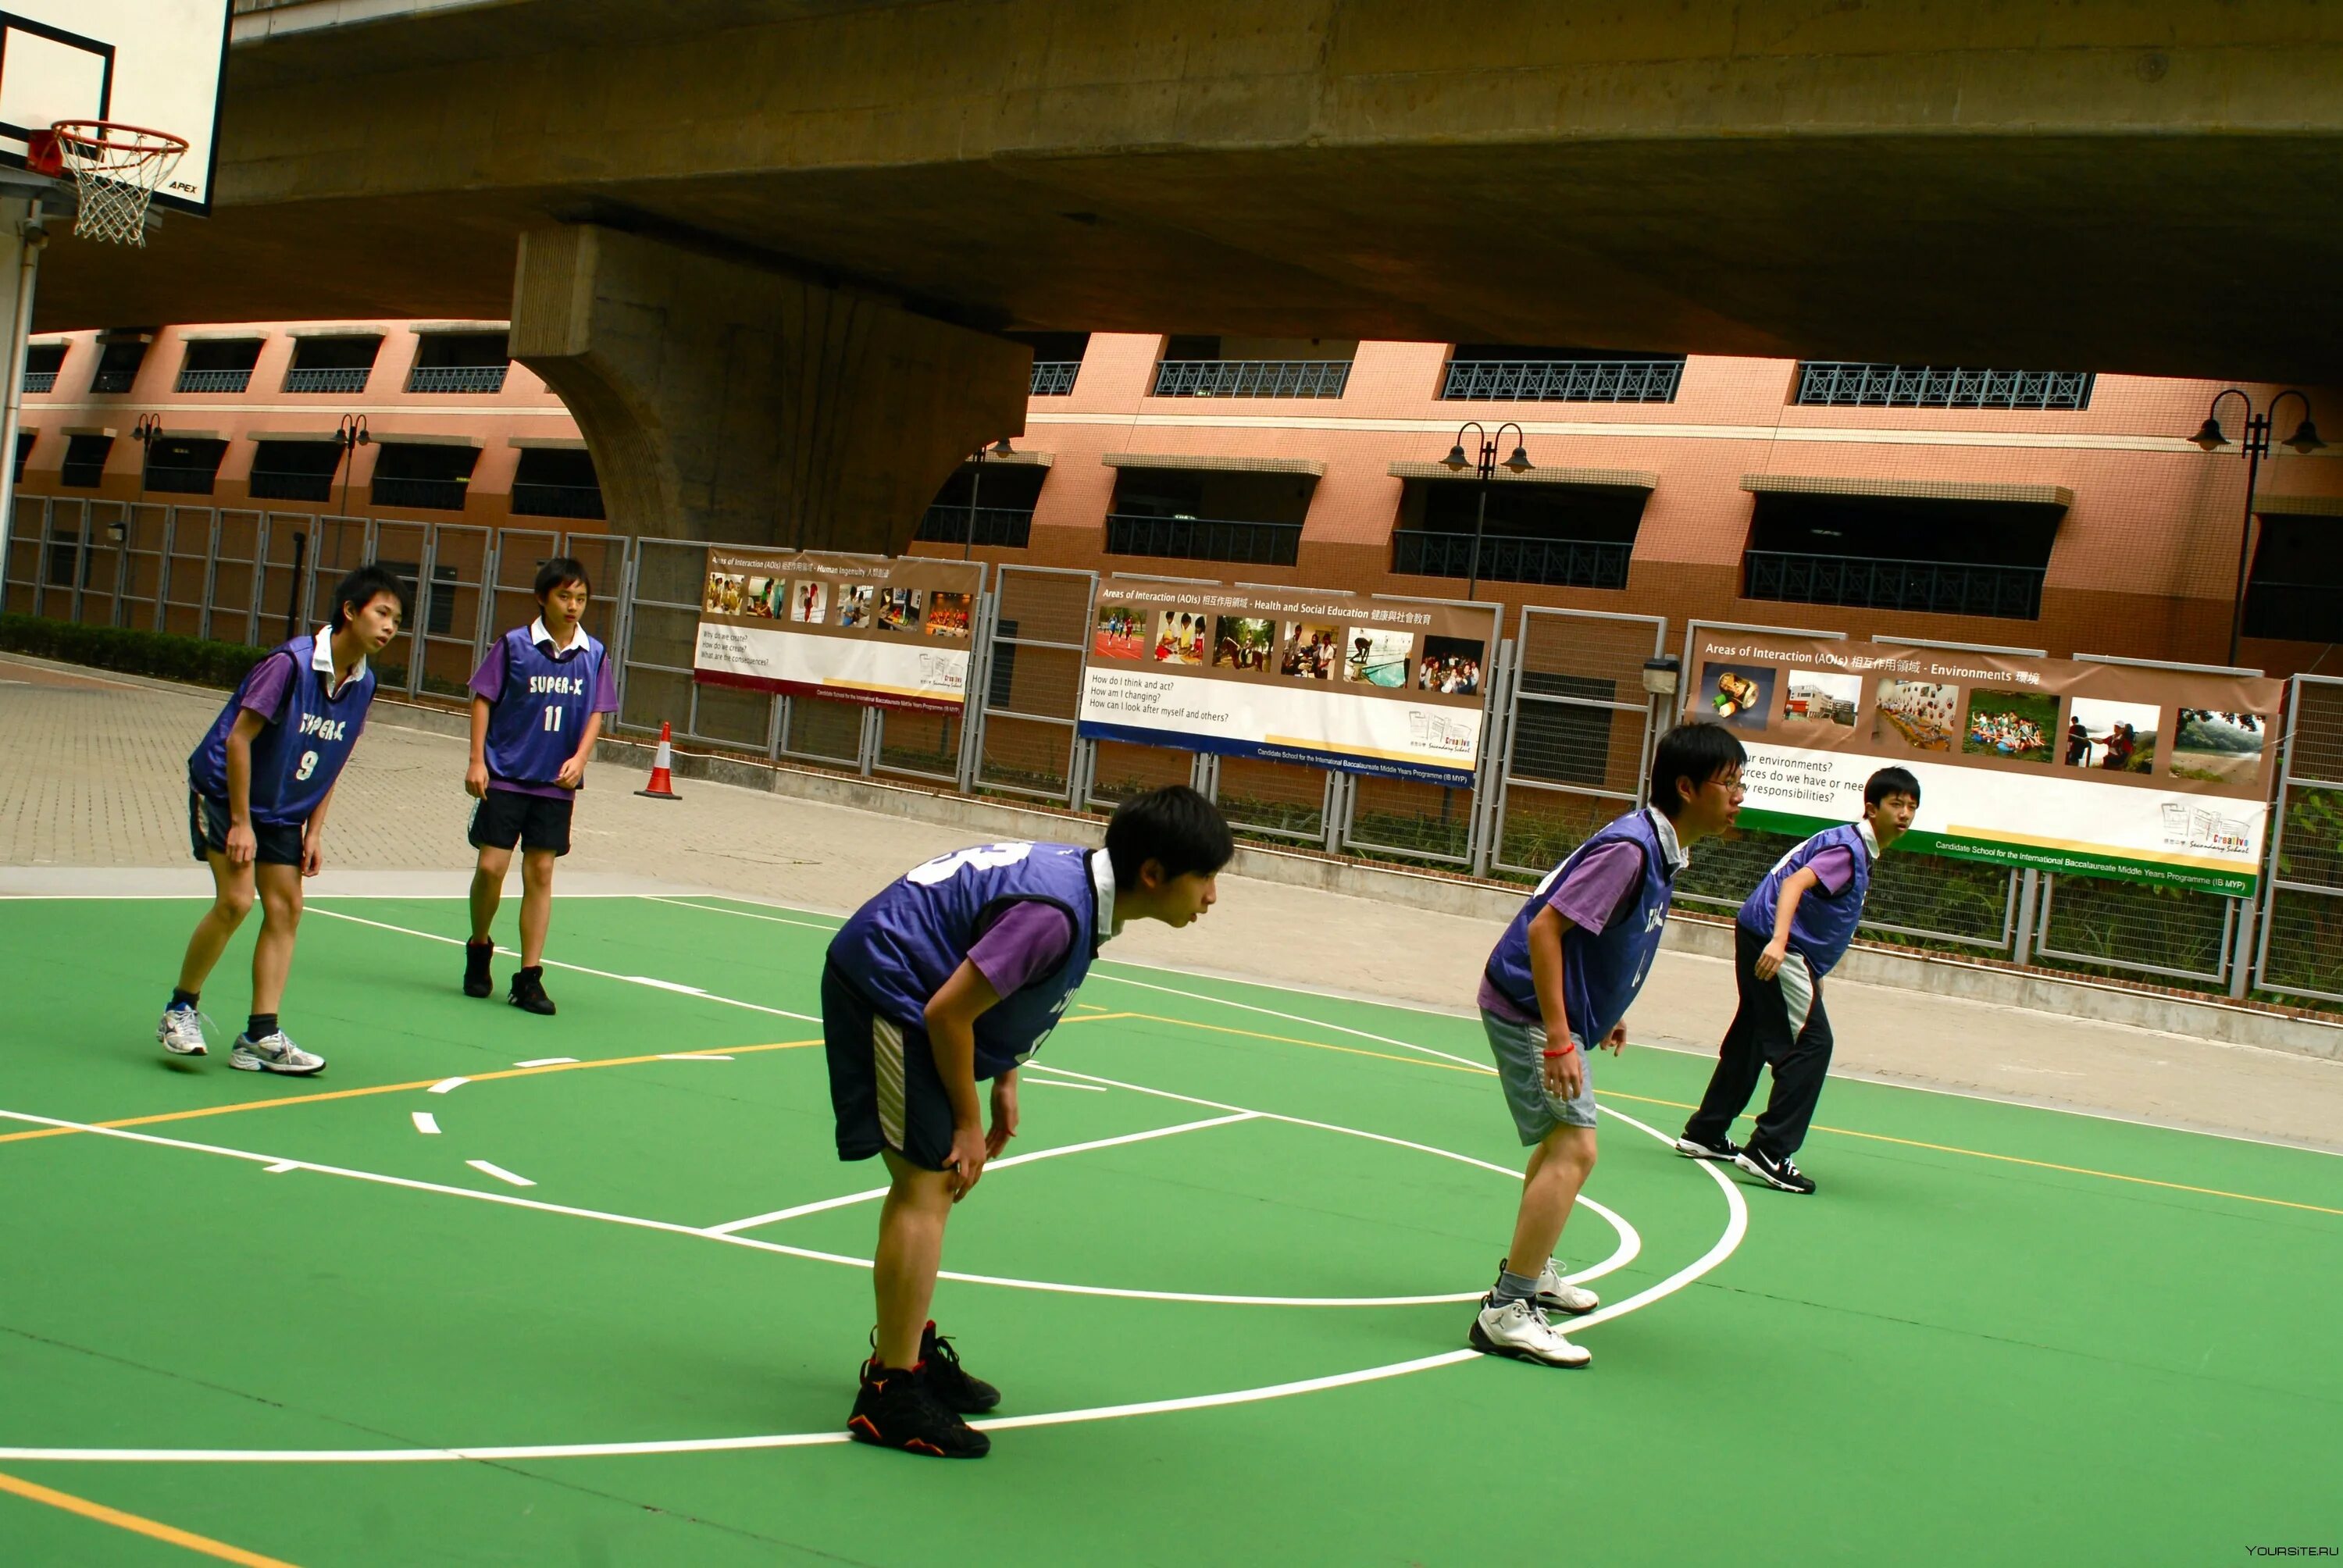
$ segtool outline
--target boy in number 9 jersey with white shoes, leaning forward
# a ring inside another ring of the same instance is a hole
[[[227,1064],[302,1078],[326,1069],[326,1057],[286,1036],[276,1008],[293,970],[300,881],[326,863],[333,785],[375,696],[366,661],[398,635],[405,602],[405,588],[380,565],[344,577],[333,591],[333,626],[255,663],[187,757],[187,837],[211,867],[213,900],[187,938],[171,1005],[155,1027],[171,1055],[206,1055],[197,996],[258,891],[253,1013]]]

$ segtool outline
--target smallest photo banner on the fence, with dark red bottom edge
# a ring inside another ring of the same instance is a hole
[[[968,701],[984,563],[708,548],[694,680],[869,708]]]

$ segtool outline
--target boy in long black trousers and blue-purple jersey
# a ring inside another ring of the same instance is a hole
[[[1863,921],[1872,860],[1912,827],[1919,780],[1907,769],[1879,769],[1863,785],[1863,818],[1825,827],[1774,863],[1734,921],[1734,987],[1741,1005],[1717,1048],[1701,1109],[1685,1123],[1675,1151],[1694,1160],[1731,1160],[1783,1193],[1811,1193],[1813,1177],[1790,1155],[1830,1071],[1830,1017],[1823,975],[1846,956]],[[1774,1066],[1774,1095],[1748,1148],[1731,1139],[1734,1118]]]

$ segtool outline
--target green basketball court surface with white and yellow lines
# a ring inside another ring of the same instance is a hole
[[[1671,1153],[1708,1064],[1631,1045],[1596,1362],[1532,1369],[1462,1350],[1521,1163],[1474,1020],[1101,963],[947,1247],[993,1453],[918,1460],[843,1441],[883,1177],[832,1148],[834,919],[560,900],[539,1020],[462,996],[459,900],[316,900],[330,1069],[279,1080],[225,1059],[248,933],[216,1055],[152,1043],[197,909],[0,905],[12,1566],[2343,1545],[2331,1155],[1835,1080],[1790,1198]]]

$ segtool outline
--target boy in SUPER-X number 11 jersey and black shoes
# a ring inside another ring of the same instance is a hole
[[[569,811],[586,788],[586,762],[602,736],[602,715],[619,710],[609,652],[586,633],[593,584],[586,567],[555,555],[537,570],[544,614],[497,638],[471,677],[471,766],[464,790],[471,844],[471,940],[464,945],[464,994],[487,996],[497,982],[487,928],[504,900],[504,874],[520,846],[520,970],[506,996],[525,1013],[553,1013],[546,996],[546,926],[553,921],[553,863],[569,853]]]

